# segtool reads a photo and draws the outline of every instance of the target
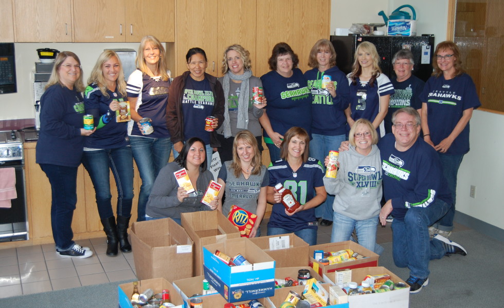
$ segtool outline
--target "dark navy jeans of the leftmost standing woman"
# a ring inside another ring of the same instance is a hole
[[[59,251],[74,246],[72,219],[77,203],[77,168],[53,164],[40,164],[51,184],[52,238]]]

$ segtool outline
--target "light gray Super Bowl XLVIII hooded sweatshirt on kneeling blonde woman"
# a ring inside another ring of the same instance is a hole
[[[382,200],[382,166],[380,150],[373,145],[371,152],[361,155],[349,145],[339,153],[336,179],[323,178],[328,194],[336,195],[336,213],[355,220],[365,220],[380,213]]]

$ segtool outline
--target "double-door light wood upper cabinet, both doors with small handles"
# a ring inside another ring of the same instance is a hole
[[[175,0],[74,0],[74,42],[173,42],[174,12]]]

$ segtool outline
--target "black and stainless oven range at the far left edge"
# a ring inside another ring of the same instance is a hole
[[[17,198],[10,208],[0,207],[0,242],[28,239],[23,142],[18,131],[0,132],[0,168],[14,168]]]

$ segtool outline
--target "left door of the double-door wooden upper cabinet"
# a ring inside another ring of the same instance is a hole
[[[74,0],[74,42],[126,42],[125,0]]]

